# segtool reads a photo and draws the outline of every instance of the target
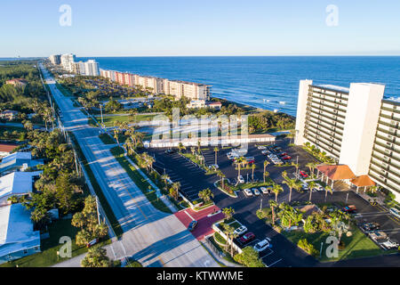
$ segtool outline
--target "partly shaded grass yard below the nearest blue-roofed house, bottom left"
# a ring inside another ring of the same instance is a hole
[[[57,256],[57,251],[63,246],[60,244],[60,238],[68,236],[71,238],[72,257],[79,256],[87,252],[86,247],[78,247],[76,245],[76,233],[79,231],[78,228],[71,224],[71,219],[58,220],[48,226],[50,237],[45,240],[41,240],[42,252],[36,253],[31,256],[22,257],[20,259],[7,262],[0,267],[48,267],[55,265],[59,262],[68,260],[68,257],[62,258]],[[109,244],[110,240],[103,240],[100,242],[100,246]]]

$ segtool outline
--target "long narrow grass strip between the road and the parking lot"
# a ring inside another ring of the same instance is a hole
[[[164,204],[163,200],[157,198],[156,190],[148,191],[148,186],[150,186],[150,184],[126,159],[126,157],[124,156],[124,151],[120,147],[116,146],[115,148],[111,149],[111,153],[114,155],[116,160],[118,160],[119,164],[124,167],[126,173],[131,177],[133,183],[135,183],[140,188],[140,190],[146,196],[151,205],[164,213],[172,214],[171,209]]]

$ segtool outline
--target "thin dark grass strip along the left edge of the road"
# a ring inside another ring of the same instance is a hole
[[[111,227],[113,228],[114,232],[116,233],[116,237],[120,237],[124,233],[121,225],[118,223],[118,220],[116,219],[116,216],[114,215],[112,208],[109,206],[108,200],[104,196],[103,191],[101,190],[101,187],[92,172],[92,168],[89,166],[86,158],[84,157],[84,152],[82,151],[79,143],[77,143],[75,135],[73,133],[68,133],[68,134],[70,134],[71,140],[74,142],[76,146],[76,152],[79,156],[79,159],[84,164],[84,169],[86,170],[86,173],[89,176],[89,179],[92,183],[92,187],[96,192],[96,195],[99,197],[101,207],[104,209],[108,221],[111,224]]]

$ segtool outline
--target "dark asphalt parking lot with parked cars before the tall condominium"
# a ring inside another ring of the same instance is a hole
[[[306,164],[310,161],[315,161],[308,152],[297,147],[288,146],[287,141],[278,142],[278,145],[292,157],[292,161],[299,162],[300,170],[308,173]],[[181,192],[188,199],[196,199],[198,198],[198,191],[210,188],[214,194],[213,200],[219,208],[234,208],[234,217],[236,220],[244,224],[249,232],[253,232],[258,240],[263,240],[266,237],[270,238],[273,247],[270,250],[266,250],[266,252],[261,252],[260,255],[265,265],[287,267],[315,266],[319,264],[314,257],[305,254],[296,245],[286,240],[283,235],[275,232],[255,215],[257,209],[268,207],[268,200],[275,199],[274,194],[260,194],[260,196],[247,197],[243,191],[238,191],[236,199],[228,197],[228,195],[215,189],[213,186],[213,183],[219,179],[217,175],[205,175],[204,170],[197,167],[188,159],[182,158],[178,153],[165,154],[165,149],[151,149],[147,151],[150,155],[155,156],[155,167],[161,174],[165,171],[166,174],[170,175],[172,182],[180,182]],[[217,153],[217,163],[220,170],[232,183],[236,181],[237,170],[233,166],[232,160],[229,160],[227,157],[229,151],[231,151],[231,148],[220,147],[220,151]],[[207,165],[215,163],[213,147],[202,148],[202,153]],[[282,172],[284,170],[289,175],[293,175],[295,172],[295,167],[276,167],[266,155],[261,153],[261,150],[255,144],[249,145],[245,156],[254,157],[257,167],[254,170],[254,178],[259,181],[262,180],[264,160],[270,162],[267,171],[269,177],[276,183],[283,181]],[[245,181],[250,181],[252,179],[252,169],[242,169],[241,175],[243,175]],[[288,201],[289,190],[286,185],[283,186],[284,192],[279,194],[278,202]],[[292,200],[306,201],[308,200],[308,195],[308,191],[304,193],[292,191]],[[314,203],[324,203],[324,191],[314,191],[312,201]],[[333,195],[328,194],[326,201],[337,204],[338,207],[343,203],[356,205],[356,208],[359,209],[359,215],[356,218],[360,224],[370,221],[378,222],[381,225],[381,229],[386,231],[390,238],[399,240],[399,222],[389,216],[386,213],[386,209],[384,211],[379,207],[372,206],[354,191],[335,191]]]

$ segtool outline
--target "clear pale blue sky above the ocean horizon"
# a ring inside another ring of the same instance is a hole
[[[400,54],[398,0],[4,2],[0,57]],[[70,27],[59,24],[61,4]],[[325,23],[329,4],[337,27]]]

